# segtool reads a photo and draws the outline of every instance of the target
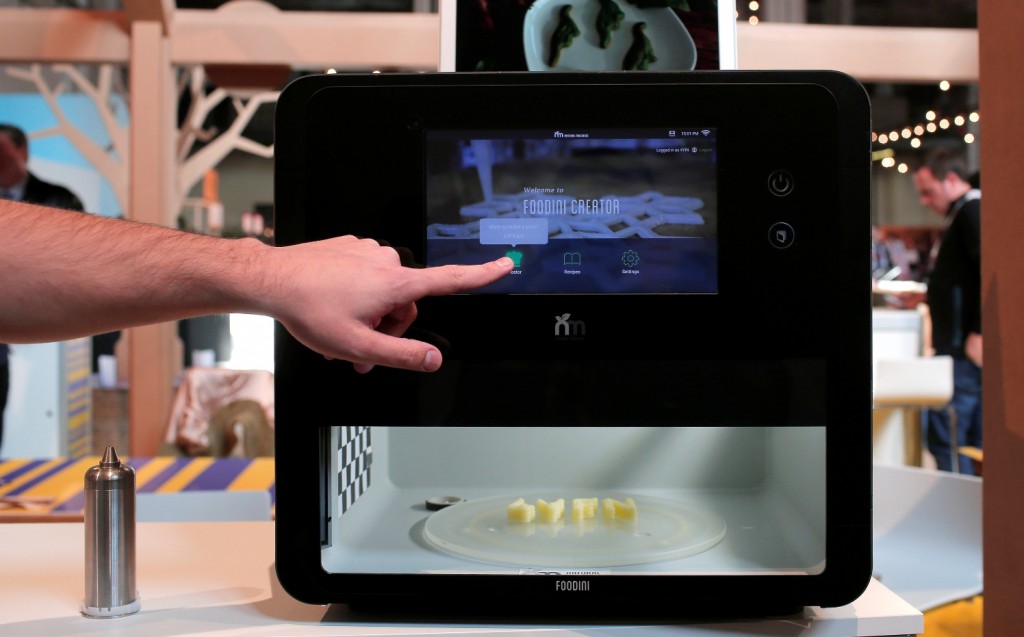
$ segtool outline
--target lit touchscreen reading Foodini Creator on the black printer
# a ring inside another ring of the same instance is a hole
[[[715,294],[715,128],[426,133],[428,265],[515,262],[476,293]]]

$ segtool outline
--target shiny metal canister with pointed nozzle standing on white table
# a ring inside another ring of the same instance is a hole
[[[119,618],[141,607],[135,587],[135,470],[108,447],[85,473],[82,614]]]

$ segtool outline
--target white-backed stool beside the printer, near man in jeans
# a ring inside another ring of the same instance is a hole
[[[922,464],[922,410],[945,410],[949,413],[950,453],[959,456],[956,435],[956,412],[953,396],[953,360],[949,356],[878,359],[874,362],[874,409],[903,413],[904,460],[912,466]],[[958,463],[953,462],[954,471]]]

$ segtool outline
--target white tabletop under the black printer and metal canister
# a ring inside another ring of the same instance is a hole
[[[515,635],[683,637],[908,635],[916,609],[872,581],[856,602],[809,607],[771,621],[630,626],[382,622],[345,606],[303,604],[273,570],[272,522],[153,522],[137,528],[142,610],[116,620],[79,614],[84,593],[81,523],[0,524],[0,635],[11,637],[216,637],[283,635]],[[513,608],[514,610],[514,608]]]

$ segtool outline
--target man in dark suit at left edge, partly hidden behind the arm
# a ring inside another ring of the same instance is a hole
[[[40,204],[67,210],[84,210],[74,193],[55,183],[43,181],[29,172],[29,140],[25,131],[10,124],[0,124],[0,199]],[[3,444],[3,411],[7,406],[10,368],[8,347],[0,343],[0,450]]]

